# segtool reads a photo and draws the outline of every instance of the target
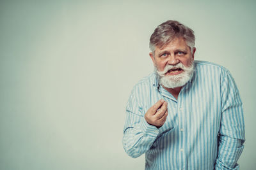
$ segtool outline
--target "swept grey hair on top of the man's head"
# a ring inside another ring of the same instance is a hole
[[[194,31],[176,20],[168,20],[156,27],[155,31],[150,36],[149,48],[152,53],[154,53],[156,46],[161,48],[170,43],[174,38],[179,37],[186,40],[187,45],[192,51],[195,47]]]

